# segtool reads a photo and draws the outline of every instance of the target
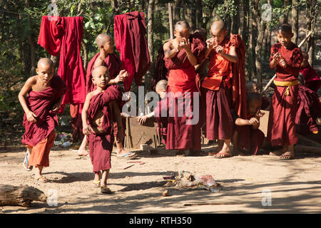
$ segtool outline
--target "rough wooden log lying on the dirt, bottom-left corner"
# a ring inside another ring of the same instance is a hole
[[[47,197],[41,190],[28,185],[0,185],[0,206],[31,207],[32,201],[46,202]]]

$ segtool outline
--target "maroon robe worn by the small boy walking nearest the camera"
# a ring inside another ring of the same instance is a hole
[[[89,103],[88,123],[91,125],[99,110],[103,112],[101,127],[103,133],[88,135],[88,147],[93,164],[93,172],[109,170],[111,168],[111,151],[113,150],[113,112],[108,106],[113,100],[121,102],[121,90],[119,86],[108,86],[105,91],[94,95]]]

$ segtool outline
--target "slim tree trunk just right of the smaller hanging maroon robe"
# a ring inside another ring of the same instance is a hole
[[[153,43],[153,18],[154,18],[154,4],[155,0],[148,0],[148,14],[147,14],[147,43],[148,53],[151,58],[151,67],[147,71],[145,86],[147,91],[151,91],[153,84],[153,68],[154,68],[154,43]]]

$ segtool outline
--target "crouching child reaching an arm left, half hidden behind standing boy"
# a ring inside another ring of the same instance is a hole
[[[158,132],[161,133],[163,138],[163,143],[166,145],[167,138],[167,124],[168,124],[168,100],[166,98],[166,90],[167,90],[167,81],[161,80],[156,84],[156,93],[160,96],[161,100],[158,102],[155,110],[149,114],[138,116],[138,123],[144,125],[148,118],[152,118],[156,116],[156,121],[158,123]],[[166,109],[166,112],[162,111],[162,109]],[[162,112],[166,113],[166,116],[162,116]]]

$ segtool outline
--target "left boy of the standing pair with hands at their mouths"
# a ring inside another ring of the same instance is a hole
[[[200,124],[188,123],[196,118],[193,113],[178,116],[178,112],[182,113],[183,105],[188,106],[192,112],[195,111],[193,95],[198,92],[198,88],[194,66],[203,60],[205,46],[199,38],[190,35],[190,26],[186,21],[175,24],[174,35],[173,40],[163,45],[165,66],[169,71],[168,93],[174,95],[173,105],[170,107],[175,110],[173,117],[168,117],[166,150],[178,150],[176,155],[185,155],[184,150],[190,150],[191,153],[200,151]],[[181,96],[178,96],[179,93]]]

